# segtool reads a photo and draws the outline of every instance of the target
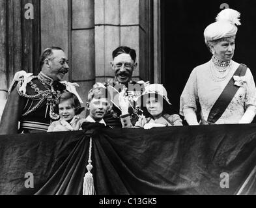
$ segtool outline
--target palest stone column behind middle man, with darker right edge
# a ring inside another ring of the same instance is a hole
[[[95,70],[96,81],[113,77],[111,53],[127,45],[137,53],[138,68],[134,79],[149,80],[150,66],[150,0],[95,1]]]

